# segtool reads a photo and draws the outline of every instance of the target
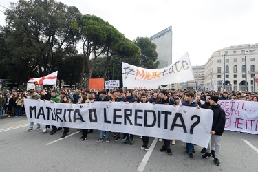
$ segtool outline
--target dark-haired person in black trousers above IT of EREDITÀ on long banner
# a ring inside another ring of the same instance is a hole
[[[173,100],[170,100],[170,98],[167,95],[168,94],[167,94],[166,90],[160,91],[160,95],[159,95],[160,100],[158,101],[157,104],[162,104],[162,105],[173,105],[173,104],[175,104],[175,102]],[[153,104],[155,104],[155,103],[153,103]],[[172,155],[172,152],[171,152],[171,149],[170,149],[170,146],[169,146],[171,140],[163,139],[163,142],[164,142],[164,144],[163,144],[162,148],[160,149],[160,151],[161,152],[166,151],[166,153],[168,155]]]

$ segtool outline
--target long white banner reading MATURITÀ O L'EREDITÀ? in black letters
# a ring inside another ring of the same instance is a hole
[[[50,103],[25,99],[29,122],[182,140],[207,147],[213,111],[151,103]]]

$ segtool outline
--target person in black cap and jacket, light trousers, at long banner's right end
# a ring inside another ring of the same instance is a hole
[[[211,142],[208,144],[207,152],[202,155],[202,158],[206,159],[211,157],[211,144],[215,145],[215,158],[214,163],[219,166],[219,151],[220,151],[220,141],[222,136],[222,133],[224,132],[225,127],[225,111],[220,107],[219,104],[217,104],[217,101],[219,100],[218,96],[211,96],[210,99],[210,107],[208,109],[211,109],[213,111],[213,125],[211,127]]]

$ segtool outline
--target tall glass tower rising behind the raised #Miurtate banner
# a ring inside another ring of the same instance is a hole
[[[166,28],[157,34],[151,36],[151,42],[157,45],[158,61],[160,65],[158,69],[168,67],[172,64],[172,26]]]

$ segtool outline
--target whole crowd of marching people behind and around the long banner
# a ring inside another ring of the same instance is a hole
[[[225,112],[217,104],[218,100],[246,100],[255,101],[258,100],[257,94],[251,92],[193,92],[191,90],[175,90],[175,89],[157,89],[157,90],[132,90],[132,89],[111,89],[111,90],[89,90],[89,89],[58,89],[56,86],[53,88],[45,89],[31,89],[29,91],[23,89],[13,89],[12,91],[0,92],[0,118],[3,114],[6,114],[7,118],[10,116],[22,116],[25,114],[24,99],[30,98],[34,100],[47,100],[52,103],[93,103],[95,101],[115,101],[122,103],[152,103],[162,105],[173,106],[189,106],[193,108],[211,109],[213,111],[213,125],[211,129],[211,142],[207,145],[207,149],[204,147],[201,153],[202,158],[209,158],[213,156],[216,165],[219,165],[219,150],[220,150],[220,136],[224,131],[225,125]],[[34,123],[30,122],[28,131],[33,130]],[[50,128],[52,130],[50,131]],[[41,129],[41,125],[37,124],[37,130]],[[63,130],[62,138],[67,136],[69,128],[56,127],[54,125],[45,125],[43,133],[50,131],[50,135],[53,135],[58,130]],[[87,134],[92,133],[92,129],[80,129],[82,136],[80,139],[86,140]],[[109,131],[99,131],[99,138],[96,142],[110,142]],[[140,136],[142,138],[142,147],[145,151],[149,150],[149,137]],[[171,138],[172,139],[172,138]],[[114,133],[114,141],[124,140],[122,144],[133,145],[133,134],[130,133]],[[166,152],[168,155],[172,155],[170,144],[175,144],[175,140],[163,140],[161,152]],[[186,154],[189,155],[191,160],[194,160],[193,153],[194,144],[186,143]]]

